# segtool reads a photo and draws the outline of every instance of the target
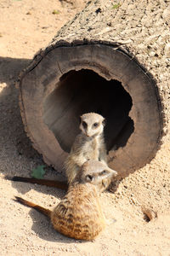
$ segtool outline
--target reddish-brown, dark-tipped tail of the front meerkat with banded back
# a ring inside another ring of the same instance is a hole
[[[25,199],[23,199],[23,198],[21,198],[19,196],[14,196],[14,197],[15,197],[14,201],[18,201],[18,202],[20,202],[22,205],[24,205],[26,207],[31,207],[31,208],[37,210],[37,212],[41,212],[43,215],[48,216],[49,218],[51,217],[51,212],[52,211],[50,211],[50,210],[48,210],[48,209],[46,209],[44,207],[40,207],[40,206],[34,204],[31,201],[26,201]]]

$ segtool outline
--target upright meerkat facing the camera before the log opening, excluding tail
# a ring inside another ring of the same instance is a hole
[[[65,172],[69,183],[87,160],[107,163],[104,126],[105,119],[99,113],[82,114],[79,126],[81,133],[77,135],[71,152],[65,160]]]

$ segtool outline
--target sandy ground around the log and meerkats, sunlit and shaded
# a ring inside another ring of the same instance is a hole
[[[0,255],[170,255],[169,135],[150,165],[123,179],[115,194],[101,195],[105,215],[116,222],[95,241],[62,236],[48,218],[13,200],[19,195],[51,209],[64,192],[4,179],[28,177],[44,164],[23,129],[14,80],[85,2],[0,1]],[[46,170],[45,177],[64,178]]]

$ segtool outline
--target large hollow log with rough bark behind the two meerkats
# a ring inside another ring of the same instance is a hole
[[[25,129],[48,165],[63,168],[88,112],[105,117],[108,162],[121,177],[156,156],[170,119],[168,2],[88,2],[20,74]]]

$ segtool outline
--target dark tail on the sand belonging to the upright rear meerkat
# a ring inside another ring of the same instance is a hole
[[[58,181],[58,180],[50,180],[50,179],[42,179],[42,178],[34,178],[34,177],[20,177],[20,176],[14,176],[14,177],[6,177],[7,179],[10,179],[12,181],[18,181],[22,183],[34,183],[39,185],[45,185],[48,187],[54,187],[57,189],[68,189],[68,185],[66,182]]]

